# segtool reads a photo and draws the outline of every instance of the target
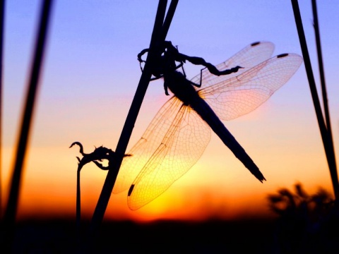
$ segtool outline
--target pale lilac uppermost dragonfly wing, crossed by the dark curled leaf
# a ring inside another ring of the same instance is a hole
[[[248,71],[250,68],[258,65],[267,59],[269,59],[274,50],[274,44],[271,42],[254,42],[237,54],[234,54],[230,59],[218,64],[216,67],[219,71],[223,71],[226,69],[233,68],[235,66],[241,66],[237,73],[231,73],[229,75],[222,75],[217,76],[211,74],[207,68],[205,68],[202,73],[196,75],[194,78],[191,79],[196,84],[200,83],[201,77],[203,80],[202,87],[208,87],[210,85],[214,85],[216,83],[220,83],[222,80],[225,80],[225,77],[232,78],[236,75],[244,73]]]

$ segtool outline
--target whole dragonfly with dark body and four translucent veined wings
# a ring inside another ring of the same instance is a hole
[[[166,95],[169,88],[174,96],[131,148],[133,157],[122,162],[113,193],[129,188],[131,210],[154,200],[198,161],[210,141],[210,129],[251,174],[261,182],[266,180],[220,119],[231,120],[253,111],[297,71],[301,56],[270,58],[273,49],[270,42],[252,43],[213,66],[200,57],[181,54],[171,42],[165,42],[151,66],[152,80],[163,78]],[[138,54],[140,62],[146,52],[143,49]],[[178,71],[186,61],[206,68],[187,80],[184,68],[183,73]]]

